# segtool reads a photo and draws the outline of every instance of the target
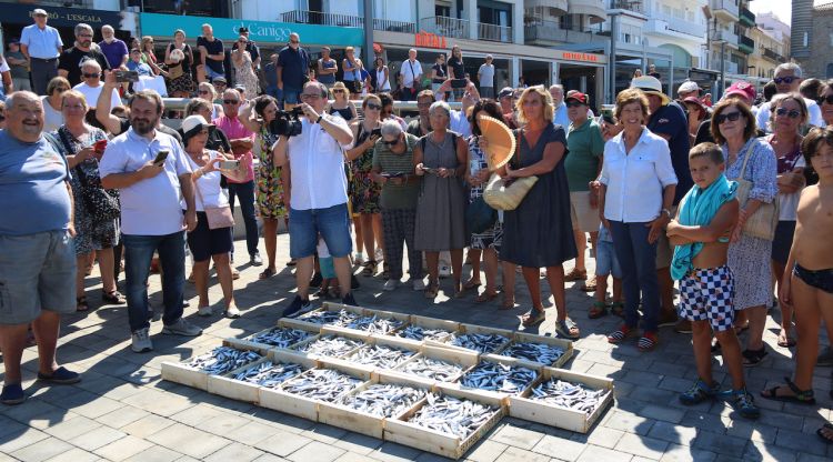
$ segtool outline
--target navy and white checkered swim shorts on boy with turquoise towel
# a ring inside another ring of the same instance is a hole
[[[734,277],[727,265],[692,270],[680,281],[680,317],[709,321],[715,332],[732,328]]]

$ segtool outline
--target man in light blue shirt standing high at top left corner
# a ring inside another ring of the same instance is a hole
[[[32,87],[38,94],[47,94],[49,81],[58,77],[58,57],[63,41],[58,29],[47,26],[49,14],[40,8],[32,11],[34,23],[23,28],[20,51],[29,59]]]

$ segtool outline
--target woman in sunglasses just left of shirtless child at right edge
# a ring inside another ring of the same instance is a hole
[[[795,233],[795,220],[799,210],[799,198],[806,181],[804,168],[806,163],[801,154],[801,129],[807,121],[807,107],[804,98],[799,93],[777,94],[770,102],[770,131],[766,137],[777,159],[779,188],[779,224],[775,228],[775,239],[772,241],[773,280],[781,281],[784,275],[790,248]],[[795,345],[792,337],[792,310],[781,305],[781,333],[777,345],[789,348]]]

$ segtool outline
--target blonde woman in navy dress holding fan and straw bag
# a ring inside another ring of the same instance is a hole
[[[515,210],[503,213],[503,241],[501,260],[503,273],[522,267],[523,279],[532,299],[532,308],[522,317],[524,327],[544,320],[541,300],[541,268],[546,268],[550,291],[555,299],[560,334],[575,339],[579,327],[566,313],[564,268],[562,263],[578,254],[570,220],[570,191],[564,170],[566,135],[552,123],[552,96],[543,87],[531,87],[521,93],[516,103],[518,120],[522,129],[514,130],[518,148],[506,164],[505,179],[538,177],[538,182],[526,193]],[[512,290],[514,281],[505,281]],[[511,303],[511,304],[510,304]],[[513,300],[504,302],[511,309]]]

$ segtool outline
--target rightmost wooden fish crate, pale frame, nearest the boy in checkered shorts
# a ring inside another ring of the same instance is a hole
[[[550,379],[563,379],[573,383],[581,383],[592,389],[606,390],[601,404],[591,414],[559,408],[542,400],[531,400],[531,388],[520,396],[509,398],[509,415],[544,425],[558,426],[579,433],[586,433],[593,423],[602,415],[604,410],[613,402],[613,380],[581,374],[563,369],[544,368],[533,386]]]

